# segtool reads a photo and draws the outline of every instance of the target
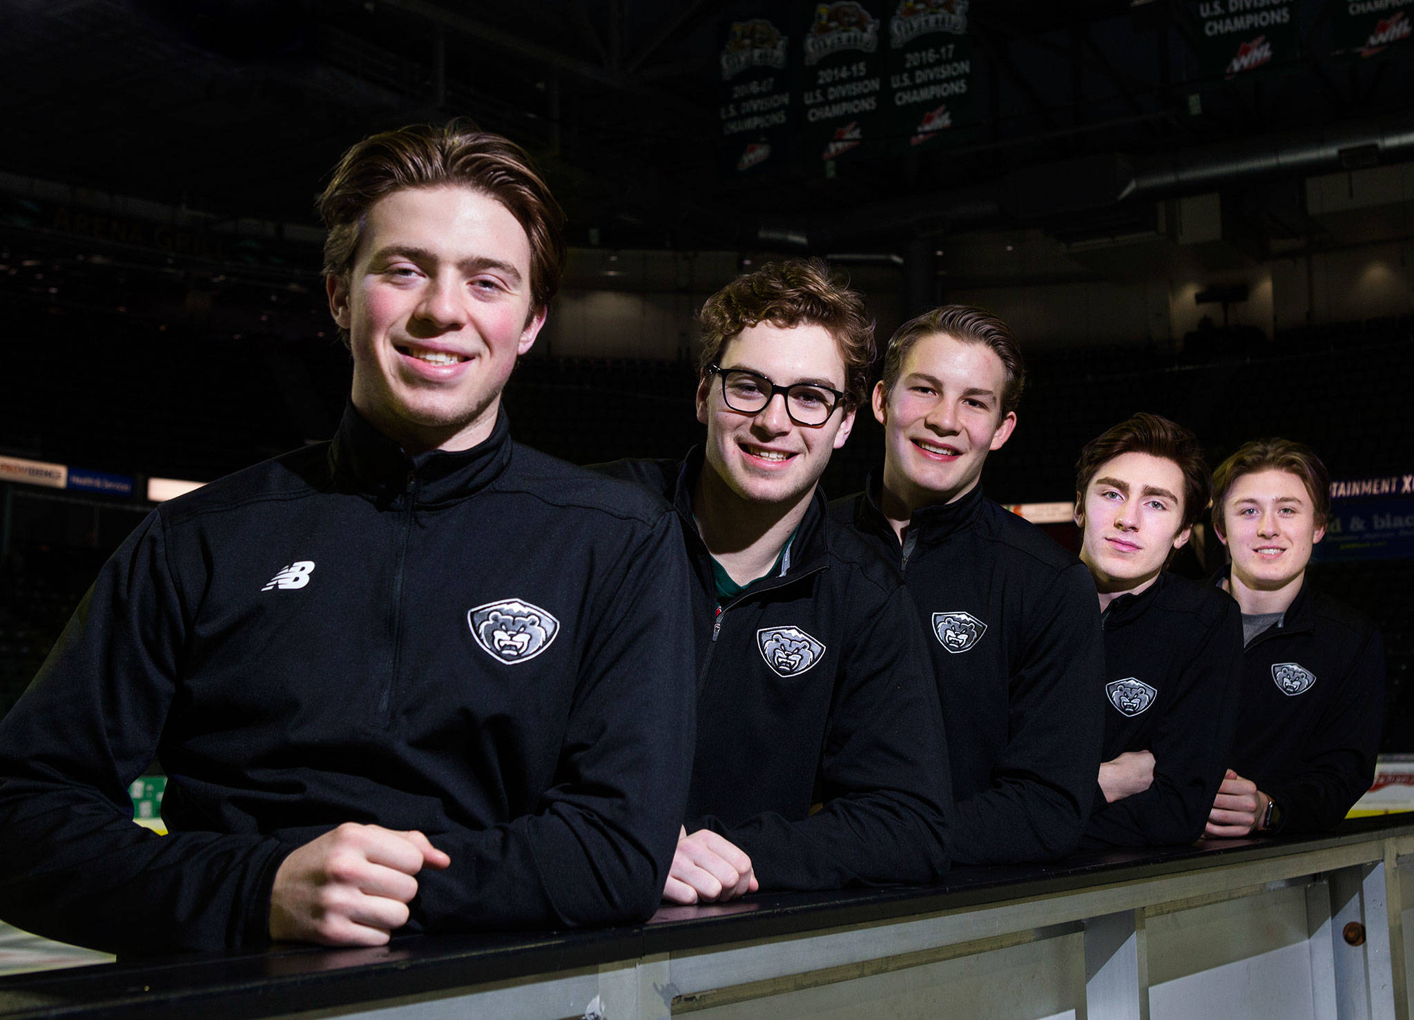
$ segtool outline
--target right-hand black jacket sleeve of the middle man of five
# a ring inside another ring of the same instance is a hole
[[[1010,737],[993,784],[954,808],[959,865],[1063,858],[1090,814],[1104,736],[1104,639],[1083,564],[1056,575],[1034,617],[1010,682]]]

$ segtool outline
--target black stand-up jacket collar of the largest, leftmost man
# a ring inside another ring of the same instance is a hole
[[[510,425],[502,408],[485,441],[461,451],[433,449],[409,456],[396,441],[378,431],[349,401],[329,445],[335,478],[380,500],[411,486],[420,506],[454,503],[495,482],[510,463]]]

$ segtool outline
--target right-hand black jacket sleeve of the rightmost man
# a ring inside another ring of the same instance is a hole
[[[1301,773],[1264,790],[1281,808],[1281,832],[1329,829],[1374,781],[1384,722],[1384,643],[1370,629],[1329,708],[1307,740]]]

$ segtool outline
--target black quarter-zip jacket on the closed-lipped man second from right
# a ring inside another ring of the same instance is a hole
[[[1241,612],[1226,593],[1164,572],[1121,595],[1104,626],[1103,760],[1154,754],[1148,790],[1094,794],[1083,846],[1185,845],[1203,835],[1227,769],[1241,680]]]

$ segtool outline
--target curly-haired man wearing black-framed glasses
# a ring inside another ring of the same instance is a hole
[[[819,260],[708,298],[686,461],[605,470],[683,518],[697,745],[663,899],[929,883],[947,867],[947,756],[916,610],[817,487],[874,357],[860,295]]]

